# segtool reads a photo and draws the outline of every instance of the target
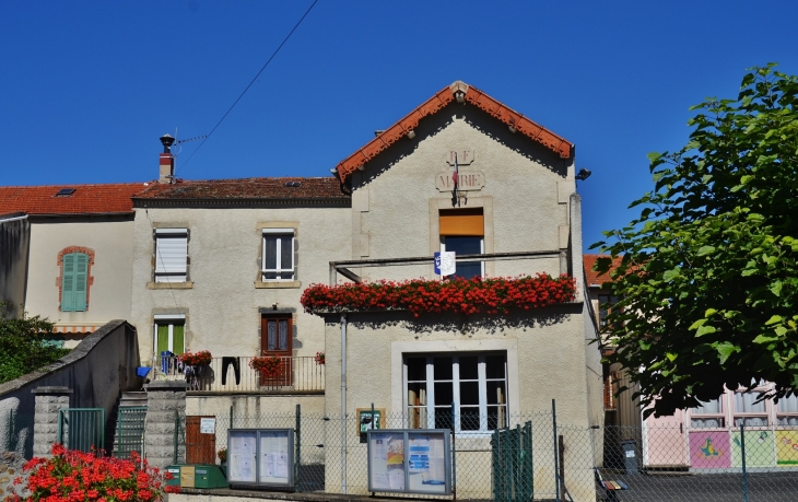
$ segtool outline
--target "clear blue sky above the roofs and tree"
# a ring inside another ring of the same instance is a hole
[[[144,182],[208,133],[312,0],[0,3],[3,185]],[[645,154],[746,68],[798,73],[791,1],[319,0],[178,176],[326,176],[455,80],[576,144],[585,243],[627,223]],[[530,194],[533,196],[533,194]]]

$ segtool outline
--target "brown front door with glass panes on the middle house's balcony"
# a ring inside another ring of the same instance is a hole
[[[274,371],[260,372],[260,385],[269,387],[293,385],[291,342],[294,329],[291,316],[263,316],[260,323],[260,355],[280,358],[280,365]]]

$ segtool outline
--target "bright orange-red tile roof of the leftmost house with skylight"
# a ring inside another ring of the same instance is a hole
[[[60,190],[73,188],[71,195],[58,197]],[[106,214],[132,212],[130,198],[146,188],[143,183],[106,185],[47,185],[38,187],[0,187],[0,214]]]

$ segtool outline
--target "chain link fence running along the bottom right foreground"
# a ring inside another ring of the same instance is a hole
[[[215,462],[231,428],[293,429],[297,491],[369,494],[365,431],[408,429],[420,420],[412,413],[357,411],[344,419],[303,415],[298,408],[257,417],[233,410],[215,418],[207,456]],[[455,427],[454,494],[438,497],[444,500],[798,500],[798,428],[590,428],[562,418],[558,423],[553,413],[455,415],[446,408],[431,410],[422,421],[430,429]],[[191,456],[197,445],[190,437],[185,443]]]

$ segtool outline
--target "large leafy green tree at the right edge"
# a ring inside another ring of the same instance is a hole
[[[760,378],[775,384],[763,398],[798,392],[798,78],[775,66],[692,107],[688,144],[648,155],[639,217],[591,246],[622,257],[603,336],[648,413]]]

